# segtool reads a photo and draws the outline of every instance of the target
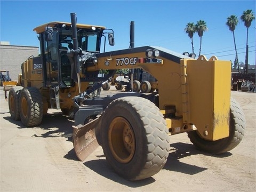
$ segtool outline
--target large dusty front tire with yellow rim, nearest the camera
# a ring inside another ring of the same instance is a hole
[[[169,135],[162,113],[144,98],[112,101],[102,116],[101,141],[107,161],[128,180],[158,173],[169,155]]]

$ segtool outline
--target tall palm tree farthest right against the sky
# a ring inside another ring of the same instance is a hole
[[[244,26],[247,28],[247,36],[246,36],[246,54],[245,54],[245,74],[247,74],[248,71],[248,31],[249,27],[252,24],[252,21],[255,19],[254,14],[252,10],[246,10],[243,12],[240,19],[244,22]]]

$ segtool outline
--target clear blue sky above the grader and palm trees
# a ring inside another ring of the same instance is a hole
[[[0,41],[11,45],[39,46],[33,29],[50,21],[77,22],[114,29],[115,46],[106,51],[129,47],[130,21],[135,24],[135,46],[156,45],[175,52],[192,52],[185,33],[188,22],[204,20],[207,27],[202,38],[201,54],[220,60],[235,60],[233,35],[226,26],[231,14],[238,18],[251,9],[255,1],[0,1]],[[255,20],[249,28],[249,64],[255,65]],[[239,61],[245,62],[246,27],[239,19],[235,30]],[[199,53],[199,37],[194,34],[195,53]]]

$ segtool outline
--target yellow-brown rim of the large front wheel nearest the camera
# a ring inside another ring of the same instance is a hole
[[[123,117],[113,119],[108,130],[109,148],[120,163],[129,163],[135,153],[135,135],[130,123]]]

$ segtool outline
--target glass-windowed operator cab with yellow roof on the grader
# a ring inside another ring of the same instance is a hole
[[[81,52],[99,53],[105,27],[77,24],[77,41]],[[108,29],[106,29],[108,30]],[[50,22],[34,29],[39,34],[44,87],[70,87],[77,81],[68,53],[74,52],[71,23]],[[108,33],[109,34],[109,33]],[[105,43],[104,41],[104,51]]]

